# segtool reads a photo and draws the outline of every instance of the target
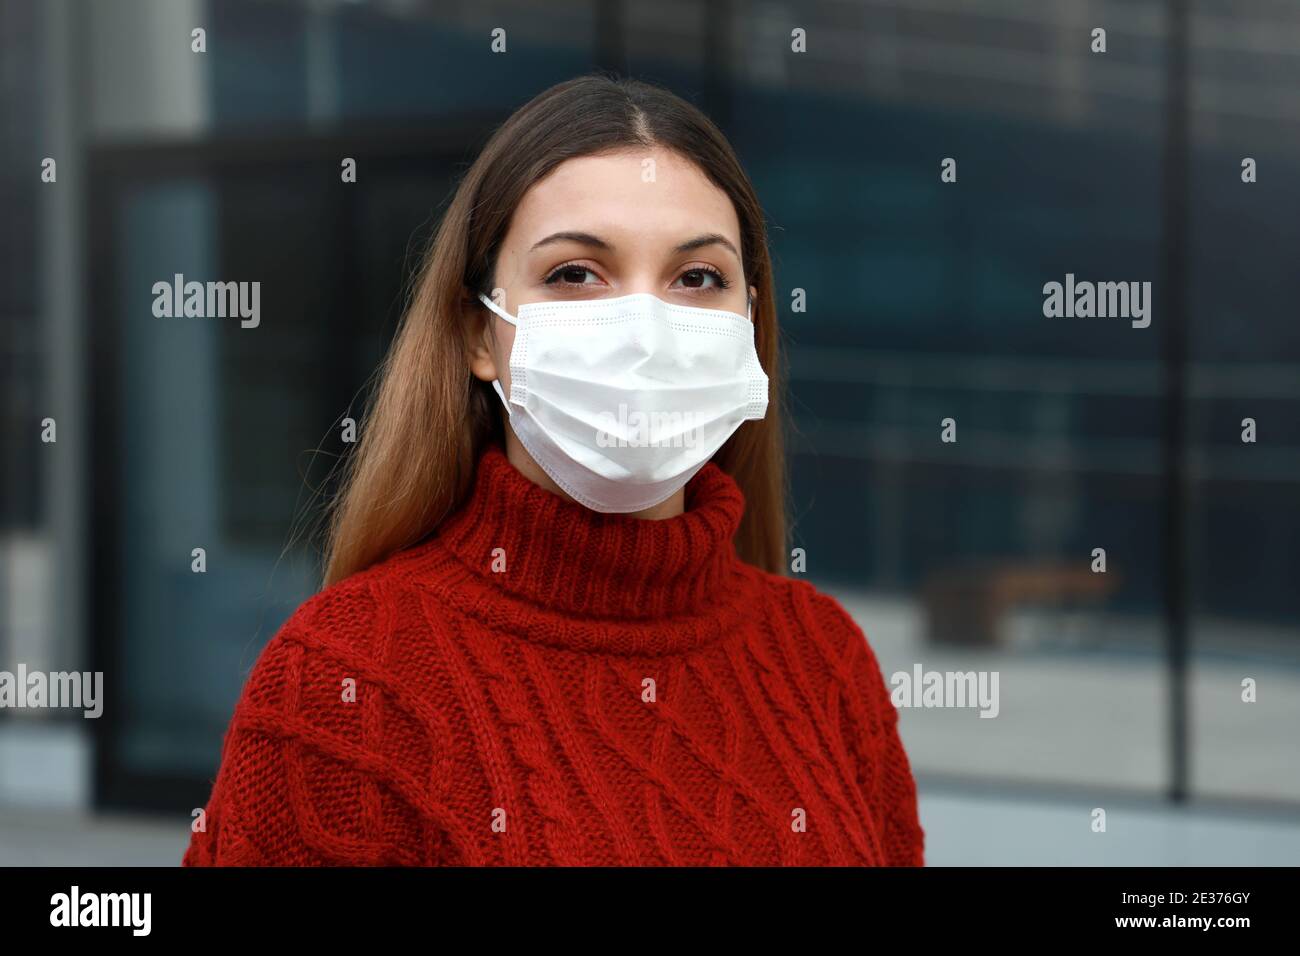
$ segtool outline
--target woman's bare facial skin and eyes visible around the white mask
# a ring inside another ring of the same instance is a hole
[[[660,148],[568,160],[524,194],[502,242],[493,298],[511,315],[530,302],[650,293],[682,306],[746,313],[740,221],[731,199],[689,160]],[[510,394],[515,326],[489,312],[473,375]],[[486,333],[486,329],[485,329]],[[510,428],[507,453],[534,481],[568,497]],[[681,493],[653,509],[681,510]]]

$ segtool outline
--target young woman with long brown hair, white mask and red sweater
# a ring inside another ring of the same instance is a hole
[[[920,865],[876,659],[785,576],[780,415],[718,129],[632,81],[528,103],[442,220],[183,862]]]

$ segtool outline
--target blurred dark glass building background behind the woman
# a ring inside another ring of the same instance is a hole
[[[107,682],[0,710],[0,864],[178,862],[422,241],[597,68],[767,208],[809,578],[887,676],[1000,674],[902,713],[930,862],[1300,862],[1296,4],[0,0],[0,670]],[[174,273],[261,325],[155,319]],[[1066,273],[1150,328],[1045,319]]]

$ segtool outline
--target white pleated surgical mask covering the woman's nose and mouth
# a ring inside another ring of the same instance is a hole
[[[767,414],[753,323],[649,293],[536,302],[512,316],[510,399],[519,441],[575,501],[642,511],[685,485],[741,423]]]

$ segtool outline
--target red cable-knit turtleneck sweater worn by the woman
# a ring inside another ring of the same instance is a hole
[[[259,657],[183,865],[920,865],[862,631],[686,511],[589,511],[489,446],[421,544]]]

